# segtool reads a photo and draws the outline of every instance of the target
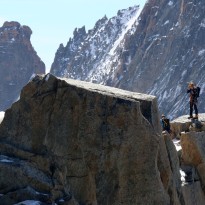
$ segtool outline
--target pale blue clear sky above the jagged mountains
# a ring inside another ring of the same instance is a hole
[[[31,44],[49,72],[61,43],[66,46],[75,28],[92,29],[103,16],[120,9],[144,6],[146,0],[0,0],[0,27],[17,21],[32,30]]]

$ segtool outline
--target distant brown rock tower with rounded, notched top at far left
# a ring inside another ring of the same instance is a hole
[[[45,65],[31,45],[31,33],[17,22],[0,27],[0,110],[17,100],[32,74],[45,73]]]

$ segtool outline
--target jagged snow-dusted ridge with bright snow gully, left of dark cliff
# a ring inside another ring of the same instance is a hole
[[[87,33],[85,27],[75,29],[66,47],[60,45],[51,73],[101,84],[119,78],[121,63],[115,50],[123,49],[127,32],[135,32],[139,14],[139,6],[134,6],[118,11],[111,19],[103,17]]]

